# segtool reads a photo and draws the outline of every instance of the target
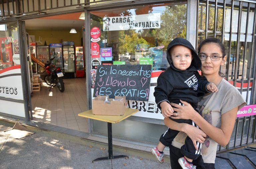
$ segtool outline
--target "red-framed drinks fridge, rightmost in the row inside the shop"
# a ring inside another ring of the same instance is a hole
[[[76,77],[84,77],[84,52],[83,46],[76,46]]]

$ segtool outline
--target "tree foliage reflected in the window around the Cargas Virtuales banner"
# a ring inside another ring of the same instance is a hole
[[[186,11],[186,4],[166,6],[161,14],[161,28],[119,31],[119,52],[134,53],[137,44],[164,45],[166,49],[174,38],[186,38]],[[154,41],[147,41],[151,37]]]

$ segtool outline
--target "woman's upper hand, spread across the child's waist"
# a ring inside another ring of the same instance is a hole
[[[187,102],[180,100],[181,103],[184,104],[184,106],[170,103],[173,107],[174,111],[177,113],[174,113],[174,116],[172,116],[172,119],[190,119],[192,120],[195,117],[195,113],[197,113],[194,108]],[[197,113],[198,114],[198,113]],[[177,116],[176,116],[177,115]]]

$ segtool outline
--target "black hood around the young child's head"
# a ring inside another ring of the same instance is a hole
[[[166,57],[167,57],[167,60],[170,64],[170,67],[172,69],[174,69],[176,71],[182,71],[182,70],[178,70],[174,67],[174,65],[172,63],[171,55],[169,53],[170,48],[175,46],[175,45],[183,45],[183,46],[185,46],[185,47],[187,47],[191,50],[192,55],[193,55],[193,59],[191,61],[191,65],[188,68],[189,71],[197,71],[197,70],[201,69],[202,62],[201,62],[200,58],[198,57],[194,47],[192,46],[192,44],[188,40],[185,40],[183,38],[175,38],[167,46]]]

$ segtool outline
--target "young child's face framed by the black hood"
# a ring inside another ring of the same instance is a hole
[[[174,67],[179,70],[186,70],[193,59],[191,50],[183,45],[173,46],[170,55]]]

